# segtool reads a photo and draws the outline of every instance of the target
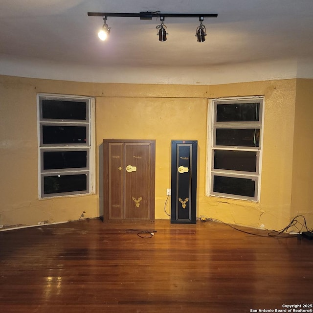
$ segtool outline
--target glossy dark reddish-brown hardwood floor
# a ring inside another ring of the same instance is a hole
[[[130,228],[157,232],[140,238],[137,232],[125,231]],[[288,312],[284,305],[312,309],[313,241],[270,238],[266,231],[241,229],[265,237],[216,222],[186,225],[165,220],[103,224],[93,219],[0,232],[0,310]]]

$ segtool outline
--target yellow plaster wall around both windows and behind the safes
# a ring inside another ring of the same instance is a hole
[[[156,139],[156,219],[168,218],[164,202],[170,188],[171,140],[198,140],[197,216],[282,228],[294,213],[291,190],[296,83],[291,79],[215,86],[133,85],[0,76],[0,224],[77,220],[83,211],[85,217],[102,215],[102,140],[132,138]],[[38,200],[36,94],[40,92],[95,98],[95,195]],[[208,98],[246,95],[265,95],[261,201],[207,197]]]

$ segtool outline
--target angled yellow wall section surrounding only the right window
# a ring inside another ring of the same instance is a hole
[[[212,98],[264,95],[265,113],[260,202],[204,197],[205,215],[267,229],[289,224],[295,87],[296,80],[209,86]]]

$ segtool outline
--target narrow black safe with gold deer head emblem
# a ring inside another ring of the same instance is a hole
[[[197,150],[197,140],[172,140],[172,224],[196,224]]]

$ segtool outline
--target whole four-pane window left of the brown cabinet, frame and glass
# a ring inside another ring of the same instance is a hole
[[[39,197],[93,193],[93,99],[38,94]]]

